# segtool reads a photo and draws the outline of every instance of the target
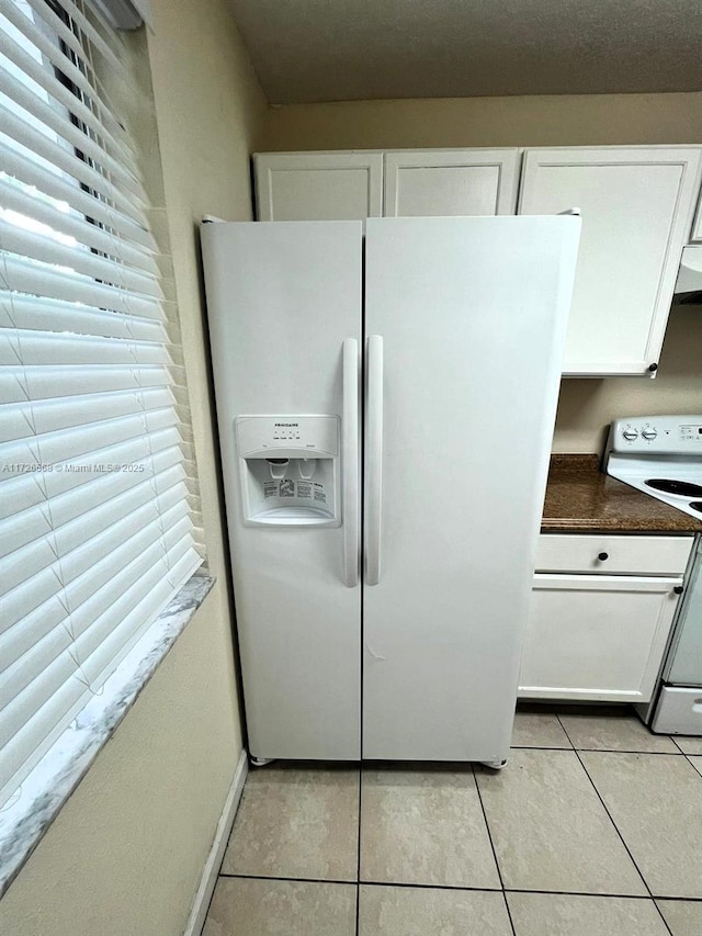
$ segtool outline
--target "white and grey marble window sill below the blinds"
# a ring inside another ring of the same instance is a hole
[[[215,579],[193,575],[0,811],[0,898],[88,773]]]

